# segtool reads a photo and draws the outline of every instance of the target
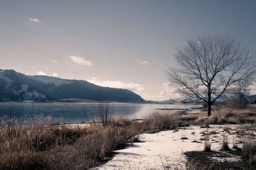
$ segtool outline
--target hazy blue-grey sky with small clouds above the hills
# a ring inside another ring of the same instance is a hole
[[[174,99],[164,70],[197,36],[256,50],[256,1],[0,0],[0,69]]]

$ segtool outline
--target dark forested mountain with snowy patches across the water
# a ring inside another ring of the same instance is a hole
[[[0,69],[0,101],[61,101],[64,99],[144,102],[141,96],[121,88],[101,87],[84,80],[25,75],[15,70]]]

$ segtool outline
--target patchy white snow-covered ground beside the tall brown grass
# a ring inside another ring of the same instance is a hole
[[[142,134],[141,143],[115,151],[113,159],[94,169],[185,169],[184,152],[203,151],[204,141],[209,138],[212,150],[220,150],[224,137],[229,146],[241,146],[241,136],[237,130],[241,125],[210,125],[209,129],[189,126],[179,130],[160,131],[155,134]],[[188,139],[185,139],[188,138]],[[223,161],[235,162],[236,155]]]

